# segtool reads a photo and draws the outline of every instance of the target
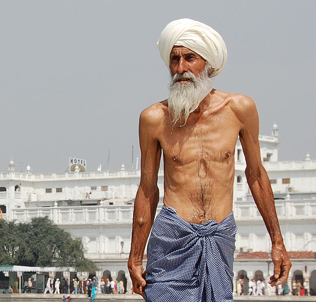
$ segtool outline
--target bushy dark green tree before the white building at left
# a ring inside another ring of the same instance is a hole
[[[85,258],[81,239],[73,239],[47,217],[17,224],[1,220],[0,230],[1,265],[69,266],[78,271],[98,269]]]

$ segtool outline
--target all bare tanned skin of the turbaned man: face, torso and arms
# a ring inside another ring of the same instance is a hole
[[[203,58],[182,46],[173,47],[170,70],[198,75]],[[187,79],[181,79],[183,84]],[[181,126],[181,127],[179,127]],[[276,214],[273,192],[262,165],[259,118],[252,99],[213,89],[189,114],[184,126],[172,123],[168,100],[146,108],[140,116],[141,182],[134,204],[131,253],[128,262],[134,291],[144,297],[143,255],[157,204],[158,170],[163,150],[164,198],[188,222],[221,222],[232,211],[235,161],[240,139],[249,189],[272,241],[272,286],[283,283],[291,268]]]

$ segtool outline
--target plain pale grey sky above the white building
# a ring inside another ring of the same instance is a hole
[[[253,98],[279,159],[316,158],[316,1],[0,0],[0,171],[134,166],[140,112],[168,96],[156,42],[179,18],[217,30],[228,50],[216,89]],[[108,153],[110,162],[108,166]]]

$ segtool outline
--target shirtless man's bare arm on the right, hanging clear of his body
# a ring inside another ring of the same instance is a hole
[[[256,105],[248,97],[243,97],[239,105],[240,112],[237,116],[241,122],[239,139],[246,159],[245,175],[251,194],[271,237],[274,274],[270,277],[269,283],[277,286],[288,278],[292,264],[283,243],[270,180],[262,165]]]

